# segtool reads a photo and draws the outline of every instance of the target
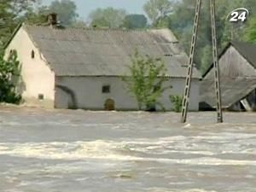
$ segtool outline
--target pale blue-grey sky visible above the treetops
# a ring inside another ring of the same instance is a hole
[[[43,0],[49,4],[53,0]],[[143,4],[148,0],[73,0],[78,7],[79,15],[86,20],[91,10],[97,8],[121,8],[126,9],[130,14],[142,14]]]

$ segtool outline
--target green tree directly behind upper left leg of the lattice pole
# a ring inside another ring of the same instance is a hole
[[[199,20],[198,38],[195,49],[195,63],[197,68],[201,68],[203,49],[206,45],[212,44],[211,21],[209,10],[209,1],[202,2],[201,17]],[[169,27],[176,34],[183,46],[183,49],[189,54],[190,42],[193,32],[193,21],[195,14],[195,1],[183,0],[174,4],[172,15],[169,16]]]

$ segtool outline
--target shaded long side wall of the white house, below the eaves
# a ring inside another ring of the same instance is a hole
[[[102,93],[102,86],[110,85],[111,92]],[[164,86],[171,87],[161,96],[166,110],[172,109],[169,96],[183,95],[185,79],[170,79]],[[199,80],[193,80],[189,109],[199,106]],[[125,83],[115,77],[55,77],[55,108],[84,108],[102,110],[107,99],[113,99],[117,110],[137,110],[137,102],[125,88]],[[160,108],[158,108],[160,109]]]

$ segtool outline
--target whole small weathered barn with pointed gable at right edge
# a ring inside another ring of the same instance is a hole
[[[223,108],[232,111],[256,109],[256,45],[232,41],[219,56]],[[213,65],[203,75],[201,110],[216,108]]]

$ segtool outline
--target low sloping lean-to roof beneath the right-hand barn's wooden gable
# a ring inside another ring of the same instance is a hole
[[[226,78],[221,82],[224,82],[220,84],[223,108],[230,108],[256,89],[256,78]],[[216,108],[215,84],[212,79],[203,80],[200,95],[201,102]]]

